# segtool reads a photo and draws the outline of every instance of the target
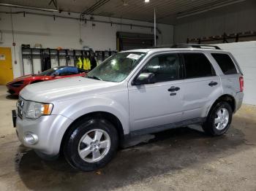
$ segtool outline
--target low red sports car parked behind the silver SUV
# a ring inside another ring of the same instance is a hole
[[[86,74],[87,71],[73,66],[59,66],[43,71],[41,74],[26,75],[13,79],[12,82],[7,83],[7,92],[12,95],[18,95],[20,90],[22,90],[26,85],[64,77],[83,77]]]

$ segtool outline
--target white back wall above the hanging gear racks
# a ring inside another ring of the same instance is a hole
[[[0,7],[1,8],[1,7]],[[12,12],[18,9],[12,9]],[[7,9],[10,11],[10,9]],[[23,11],[23,10],[21,10]],[[26,10],[28,11],[28,10]],[[45,13],[45,12],[44,12]],[[68,16],[67,12],[61,15]],[[79,15],[72,14],[72,17],[79,17]],[[0,13],[0,30],[3,32],[4,43],[1,47],[12,47],[12,26],[10,14]],[[14,38],[15,38],[15,52],[17,64],[15,64],[14,48],[12,47],[12,66],[14,77],[22,75],[21,64],[21,44],[42,44],[42,47],[62,47],[67,49],[81,49],[83,46],[91,47],[93,50],[116,50],[116,31],[126,31],[132,33],[153,34],[151,28],[140,28],[130,26],[114,25],[110,26],[108,23],[95,23],[92,26],[91,22],[81,26],[81,39],[83,44],[80,44],[80,21],[66,18],[45,17],[42,15],[26,15],[23,14],[12,15]],[[107,20],[117,23],[129,23],[143,26],[153,26],[152,23],[140,22],[135,20],[124,20],[110,17],[97,17],[95,20]],[[159,39],[158,44],[172,44],[173,43],[173,26],[158,24],[157,27],[162,34],[157,34]]]

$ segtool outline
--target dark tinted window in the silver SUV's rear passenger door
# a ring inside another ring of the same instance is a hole
[[[203,53],[182,53],[185,78],[215,76],[214,68]]]

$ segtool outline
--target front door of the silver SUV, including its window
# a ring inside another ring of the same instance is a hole
[[[178,55],[154,56],[140,73],[154,73],[156,82],[129,85],[131,130],[178,122],[181,119],[184,91]]]

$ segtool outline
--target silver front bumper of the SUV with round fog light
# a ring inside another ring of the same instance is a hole
[[[36,149],[45,155],[55,156],[59,154],[61,140],[71,123],[72,120],[62,115],[47,115],[37,120],[17,117],[16,132],[24,146]],[[26,141],[25,136],[28,133],[37,136],[38,140],[35,144]]]

